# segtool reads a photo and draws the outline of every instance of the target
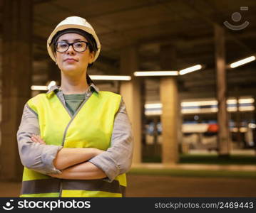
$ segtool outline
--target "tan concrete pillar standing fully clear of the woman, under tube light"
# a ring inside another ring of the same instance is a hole
[[[160,48],[161,70],[177,70],[175,49],[171,45]],[[160,101],[162,107],[162,163],[178,162],[178,129],[180,104],[176,77],[162,77],[160,79]]]

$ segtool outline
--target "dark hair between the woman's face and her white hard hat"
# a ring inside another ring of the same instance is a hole
[[[56,42],[58,41],[58,38],[60,38],[61,35],[66,33],[77,33],[79,35],[83,35],[83,37],[86,38],[86,40],[88,41],[88,48],[90,53],[94,52],[95,54],[97,52],[98,48],[97,48],[96,40],[93,38],[93,35],[78,28],[68,28],[63,31],[58,31],[58,33],[56,33],[53,36],[53,39],[51,40],[51,45],[53,45],[52,48],[54,52],[56,52]],[[91,67],[92,65],[93,65],[93,62],[91,64],[88,64],[88,67]]]

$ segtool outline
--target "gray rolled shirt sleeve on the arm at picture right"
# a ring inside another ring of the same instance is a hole
[[[112,182],[116,176],[126,173],[130,169],[132,158],[132,129],[126,112],[126,105],[122,99],[113,124],[111,147],[88,161],[101,168],[108,177],[106,180]]]

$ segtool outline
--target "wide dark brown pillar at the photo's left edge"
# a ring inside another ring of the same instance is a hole
[[[21,180],[16,132],[31,97],[33,1],[3,1],[1,178]]]

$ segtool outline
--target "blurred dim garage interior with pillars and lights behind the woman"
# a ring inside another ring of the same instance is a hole
[[[88,73],[126,102],[128,197],[255,197],[254,0],[0,0],[0,196],[16,197],[26,101],[60,84],[46,40],[67,16],[101,41]]]

